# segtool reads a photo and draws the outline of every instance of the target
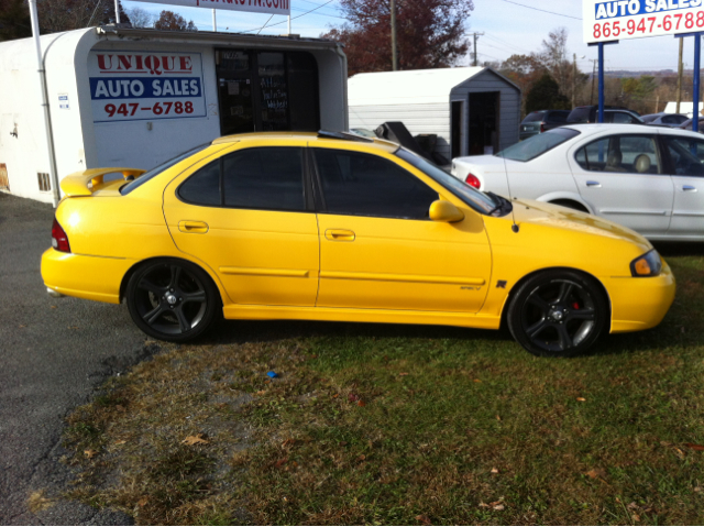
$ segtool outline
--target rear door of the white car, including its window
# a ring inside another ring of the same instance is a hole
[[[614,134],[575,153],[573,175],[597,216],[645,235],[668,232],[672,180],[664,173],[654,134]]]

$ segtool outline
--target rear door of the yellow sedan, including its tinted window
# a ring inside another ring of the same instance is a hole
[[[307,182],[302,144],[204,161],[167,187],[168,229],[235,304],[314,306],[319,242]]]

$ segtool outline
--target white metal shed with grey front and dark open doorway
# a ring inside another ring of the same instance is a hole
[[[448,158],[494,153],[518,142],[520,88],[492,68],[359,74],[348,81],[350,129],[402,121],[438,135]]]

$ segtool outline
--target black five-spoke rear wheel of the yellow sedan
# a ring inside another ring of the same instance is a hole
[[[127,304],[142,331],[169,342],[185,342],[204,333],[222,305],[210,276],[176,259],[140,266],[128,282]]]

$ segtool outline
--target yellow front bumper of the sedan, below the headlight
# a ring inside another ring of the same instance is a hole
[[[612,333],[658,326],[674,300],[675,281],[664,263],[658,276],[602,278],[612,300]]]

